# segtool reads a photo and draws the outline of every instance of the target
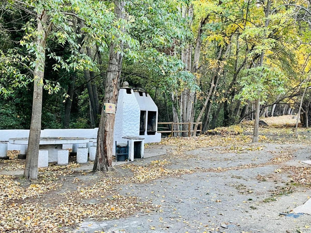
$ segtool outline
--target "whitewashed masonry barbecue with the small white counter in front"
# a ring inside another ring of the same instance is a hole
[[[120,88],[114,123],[114,148],[117,144],[129,142],[129,160],[143,158],[144,143],[160,142],[157,133],[158,108],[145,91]]]

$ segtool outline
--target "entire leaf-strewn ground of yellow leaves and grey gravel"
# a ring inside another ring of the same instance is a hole
[[[217,135],[167,138],[165,154],[109,173],[40,168],[37,181],[0,175],[0,232],[311,232],[311,215],[293,214],[311,196],[311,132],[292,116],[252,121]],[[215,133],[214,132],[214,133]],[[20,170],[16,152],[1,170]]]

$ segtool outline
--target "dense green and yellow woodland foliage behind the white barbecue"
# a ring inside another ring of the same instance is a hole
[[[32,10],[39,12],[40,6],[53,22],[42,80],[43,129],[98,126],[109,45],[117,38],[125,43],[120,83],[149,92],[163,110],[159,121],[196,121],[199,116],[207,130],[253,119],[256,99],[262,116],[298,112],[301,93],[309,86],[309,5],[130,0],[126,20],[114,21],[113,1],[5,1],[0,129],[30,127],[30,69],[38,59]],[[309,103],[304,101],[303,112]],[[188,118],[183,116],[189,111]]]

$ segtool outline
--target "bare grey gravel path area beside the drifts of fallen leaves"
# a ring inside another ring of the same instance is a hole
[[[262,150],[224,153],[209,148],[188,151],[189,159],[169,154],[137,160],[150,163],[166,158],[166,168],[191,169],[192,174],[163,177],[146,184],[123,185],[121,195],[152,199],[160,208],[149,214],[96,222],[89,219],[76,232],[311,232],[311,216],[287,216],[311,196],[309,188],[290,185],[291,172],[274,172],[281,166],[309,166],[311,147],[260,145]],[[162,146],[163,148],[163,146]],[[278,152],[294,151],[287,162],[265,164]],[[208,168],[235,167],[255,163],[258,167],[219,172]],[[127,172],[117,168],[120,173]],[[285,192],[290,188],[290,192]],[[309,228],[310,225],[310,228]]]

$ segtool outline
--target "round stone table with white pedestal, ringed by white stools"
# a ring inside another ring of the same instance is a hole
[[[58,149],[63,149],[63,144],[86,144],[89,141],[88,138],[42,137],[40,138],[39,149],[49,151],[49,162],[57,162]],[[9,143],[27,145],[28,138],[10,138]]]

